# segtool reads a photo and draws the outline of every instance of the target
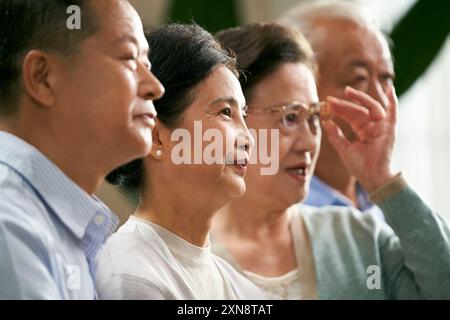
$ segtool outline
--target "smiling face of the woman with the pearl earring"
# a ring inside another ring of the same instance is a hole
[[[244,176],[253,138],[244,121],[245,98],[238,79],[225,66],[201,82],[194,96],[181,125],[167,130],[164,182],[175,183],[178,190],[199,201],[208,199],[223,206],[246,189]]]

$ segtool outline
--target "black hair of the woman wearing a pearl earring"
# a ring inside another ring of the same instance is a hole
[[[198,84],[218,67],[226,66],[236,77],[236,60],[198,25],[169,24],[147,35],[152,72],[163,84],[164,96],[154,102],[159,121],[176,128],[196,96]],[[111,172],[106,180],[134,195],[145,186],[144,164],[135,160]]]

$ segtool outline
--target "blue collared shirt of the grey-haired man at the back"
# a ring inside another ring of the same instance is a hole
[[[383,212],[379,207],[369,201],[367,193],[364,191],[360,184],[356,185],[356,196],[359,203],[359,208],[357,209],[361,210],[362,212],[371,213],[376,218],[384,221]],[[334,190],[328,184],[320,180],[317,176],[313,176],[311,179],[309,194],[304,203],[313,207],[353,207],[350,199]]]

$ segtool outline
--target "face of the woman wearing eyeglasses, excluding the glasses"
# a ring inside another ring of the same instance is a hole
[[[308,122],[305,117],[305,121],[285,130],[286,123],[294,123],[295,113],[285,116],[283,124],[282,112],[261,112],[293,101],[305,106],[318,102],[313,73],[302,63],[284,63],[254,87],[248,101],[246,122],[249,129],[256,132],[279,129],[279,170],[275,175],[261,175],[264,166],[250,165],[246,177],[247,193],[242,201],[262,201],[270,208],[284,210],[306,197],[319,155],[321,131],[318,118],[310,118]],[[258,152],[259,148],[260,141],[253,152]],[[267,150],[272,150],[270,145]]]

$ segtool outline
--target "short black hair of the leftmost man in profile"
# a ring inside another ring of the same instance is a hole
[[[68,55],[97,30],[88,0],[0,0],[0,116],[17,111],[21,70],[34,49]],[[81,28],[67,27],[69,6],[81,9]]]

